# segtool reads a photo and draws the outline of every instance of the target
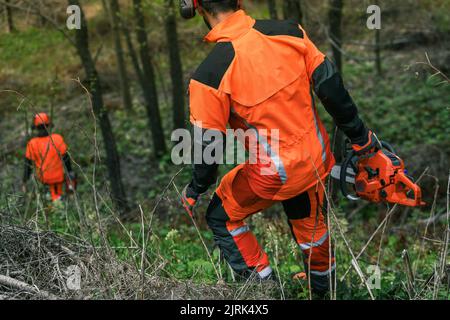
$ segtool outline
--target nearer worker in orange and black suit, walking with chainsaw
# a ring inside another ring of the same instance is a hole
[[[335,259],[323,215],[324,180],[335,160],[313,92],[358,154],[379,142],[359,118],[334,64],[297,23],[255,20],[237,0],[182,1],[185,18],[196,11],[211,29],[205,41],[216,44],[190,81],[190,120],[203,132],[221,132],[222,138],[194,143],[203,149],[224,145],[229,125],[249,130],[270,160],[246,162],[223,177],[206,214],[215,242],[236,273],[270,278],[269,258],[245,219],[281,202],[311,289],[325,294]],[[217,163],[193,165],[192,182],[182,194],[191,213],[215,182],[217,168]]]

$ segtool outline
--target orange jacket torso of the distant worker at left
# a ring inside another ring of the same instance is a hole
[[[67,145],[59,134],[36,137],[27,144],[26,158],[33,161],[36,176],[44,184],[64,182],[64,165],[62,157],[67,152]]]

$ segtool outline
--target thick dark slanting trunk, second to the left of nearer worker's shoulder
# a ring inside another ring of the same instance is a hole
[[[164,131],[161,125],[161,116],[159,112],[158,95],[156,91],[155,72],[153,70],[152,60],[149,55],[149,45],[145,28],[145,18],[142,12],[141,0],[133,0],[134,16],[136,19],[136,36],[139,43],[139,54],[143,76],[145,81],[144,96],[148,98],[146,104],[149,125],[152,131],[153,149],[155,157],[160,158],[166,152],[166,143],[164,140]]]

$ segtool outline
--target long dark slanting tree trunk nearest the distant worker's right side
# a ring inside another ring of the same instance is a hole
[[[77,5],[81,8],[78,0],[68,0],[69,5]],[[84,13],[81,10],[81,29],[75,32],[75,43],[80,56],[81,63],[87,77],[87,87],[92,97],[92,108],[103,137],[103,144],[106,151],[106,166],[108,168],[109,180],[111,183],[112,199],[121,214],[128,210],[128,203],[125,189],[122,183],[120,158],[117,152],[116,139],[114,137],[108,111],[103,105],[102,88],[94,60],[89,50],[89,34]]]

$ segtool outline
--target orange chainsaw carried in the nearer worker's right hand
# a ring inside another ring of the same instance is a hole
[[[336,165],[331,176],[340,182],[342,194],[349,200],[397,203],[417,207],[425,205],[422,191],[407,175],[403,160],[389,143],[381,141],[382,149],[363,156],[351,150],[342,165]],[[353,185],[355,195],[349,194],[347,184]]]

